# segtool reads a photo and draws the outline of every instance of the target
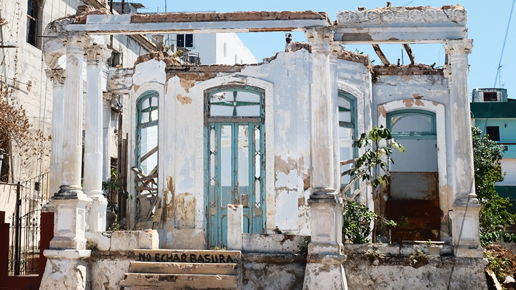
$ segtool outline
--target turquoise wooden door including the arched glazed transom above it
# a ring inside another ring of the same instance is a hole
[[[227,245],[227,205],[244,207],[245,233],[265,231],[265,130],[260,90],[208,94],[205,225],[210,247]]]

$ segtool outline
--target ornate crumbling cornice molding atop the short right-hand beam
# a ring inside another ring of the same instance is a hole
[[[393,24],[414,24],[431,26],[432,23],[452,23],[466,26],[467,11],[460,5],[434,8],[420,7],[384,7],[363,11],[337,12],[337,26],[359,24],[361,26],[378,26]]]

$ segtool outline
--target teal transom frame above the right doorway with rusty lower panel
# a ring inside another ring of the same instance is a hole
[[[423,115],[430,117],[432,131],[424,132],[392,132],[392,117],[399,117],[404,115]],[[435,113],[428,110],[419,109],[403,109],[395,110],[387,113],[387,128],[391,131],[394,139],[437,139],[437,125],[435,121]]]

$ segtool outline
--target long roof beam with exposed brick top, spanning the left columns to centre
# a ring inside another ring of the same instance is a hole
[[[96,35],[131,35],[154,32],[213,33],[303,31],[306,27],[332,26],[326,13],[232,12],[164,14],[90,14],[84,24],[68,24],[66,31],[85,31]]]

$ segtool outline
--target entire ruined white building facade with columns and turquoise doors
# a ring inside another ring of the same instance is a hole
[[[285,52],[254,65],[183,66],[153,54],[117,70],[108,90],[124,95],[131,116],[124,131],[135,199],[128,201],[127,224],[154,230],[103,234],[94,120],[104,86],[99,66],[108,51],[90,35],[149,31],[304,31],[309,44],[287,43]],[[407,281],[389,274],[396,271],[421,288],[485,284],[469,119],[472,40],[463,7],[341,11],[336,22],[312,11],[88,14],[55,21],[48,33],[57,38],[46,43],[46,55],[66,55],[66,133],[61,187],[51,202],[55,237],[45,251],[41,287],[402,289]],[[449,61],[444,69],[373,67],[368,57],[346,51],[346,43],[443,43]],[[84,55],[90,173],[82,187]],[[365,182],[341,192],[350,182],[341,176],[350,162],[342,161],[363,153],[352,140],[374,126],[390,128],[407,148],[393,157],[399,162],[385,200],[374,200]],[[376,244],[391,258],[367,267],[354,257],[364,248],[342,244],[348,200],[380,207],[394,220],[408,218],[392,229],[392,241],[443,242],[439,255],[414,269],[402,262],[414,247]],[[274,235],[276,228],[294,235]],[[311,237],[306,259],[292,254],[303,235]],[[97,249],[86,250],[86,238]],[[219,247],[228,251],[211,251]],[[214,261],[232,268],[209,268]],[[179,271],[181,264],[189,270]],[[70,271],[77,276],[61,275]]]

